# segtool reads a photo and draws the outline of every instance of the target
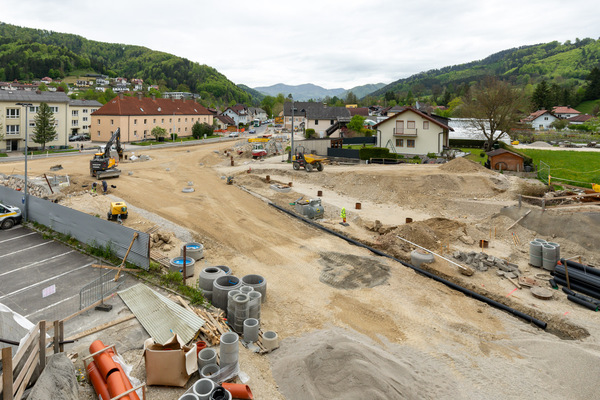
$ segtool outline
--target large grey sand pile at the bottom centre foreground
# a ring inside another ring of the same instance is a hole
[[[271,364],[288,400],[433,399],[455,392],[451,377],[426,355],[399,350],[336,328],[284,340]]]

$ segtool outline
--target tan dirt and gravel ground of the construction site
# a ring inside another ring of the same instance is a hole
[[[89,154],[31,160],[29,175],[69,175],[71,186],[57,201],[101,218],[111,199],[122,199],[130,207],[125,225],[141,231],[159,225],[177,237],[154,249],[166,257],[178,256],[181,244],[193,240],[205,246],[201,264],[265,277],[261,326],[282,341],[264,356],[241,349],[241,369],[255,398],[597,397],[600,317],[561,291],[541,300],[525,287],[515,290],[493,268],[469,277],[444,260],[427,266],[547,322],[544,331],[309,226],[268,201],[293,210],[290,203],[321,191],[325,216],[319,223],[393,256],[409,261],[413,249],[397,235],[448,258],[457,250],[481,251],[485,239],[486,253],[517,264],[530,277],[545,272],[528,265],[534,238],[560,243],[564,257],[600,264],[598,206],[518,209],[518,193],[540,194],[541,184],[462,159],[441,166],[326,165],[323,172],[307,173],[292,170],[281,155],[264,161],[239,155],[232,142],[136,150],[142,154],[150,160],[120,164],[123,173],[108,181],[107,196],[89,192]],[[50,171],[56,164],[63,169]],[[4,174],[19,169],[22,162],[0,164]],[[226,184],[227,176],[234,177],[233,185]],[[290,182],[288,193],[271,188]],[[340,225],[342,207],[348,226]],[[140,336],[137,347],[122,353],[144,381],[140,330],[133,320],[94,338]],[[86,343],[73,349],[82,355]],[[150,399],[176,399],[183,391],[151,387],[148,393]],[[92,393],[83,388],[82,398]]]

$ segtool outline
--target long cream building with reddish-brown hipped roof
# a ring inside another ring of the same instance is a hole
[[[196,122],[212,125],[213,114],[193,100],[119,95],[92,113],[90,131],[92,140],[105,142],[121,128],[121,141],[127,143],[152,137],[155,126],[191,136]]]

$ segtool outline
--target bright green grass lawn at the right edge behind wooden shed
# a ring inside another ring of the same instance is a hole
[[[588,187],[600,183],[600,153],[592,151],[558,151],[519,149],[531,157],[539,169],[540,178],[548,179],[548,169],[540,166],[540,161],[550,166],[550,175],[558,182]]]

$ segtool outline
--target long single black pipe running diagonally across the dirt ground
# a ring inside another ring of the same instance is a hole
[[[481,301],[483,303],[489,304],[492,307],[496,307],[496,308],[498,308],[500,310],[503,310],[503,311],[506,311],[506,312],[508,312],[510,314],[513,314],[514,316],[519,317],[519,318],[521,318],[521,319],[523,319],[523,320],[525,320],[527,322],[530,322],[530,323],[534,324],[535,326],[537,326],[539,328],[546,329],[546,327],[548,326],[548,324],[546,322],[540,321],[539,319],[536,319],[536,318],[532,317],[531,315],[527,315],[525,313],[522,313],[521,311],[518,311],[518,310],[515,310],[514,308],[508,307],[507,305],[504,305],[504,304],[502,304],[500,302],[497,302],[496,300],[492,300],[492,299],[490,299],[488,297],[485,297],[485,296],[483,296],[483,295],[481,295],[479,293],[473,292],[472,290],[469,290],[469,289],[464,288],[462,286],[459,286],[459,285],[457,285],[457,284],[455,284],[453,282],[450,282],[449,280],[446,280],[444,278],[440,278],[439,276],[437,276],[435,274],[432,274],[431,272],[425,271],[425,270],[423,270],[421,268],[417,268],[414,265],[411,265],[411,264],[409,264],[407,262],[404,262],[404,261],[402,261],[402,260],[400,260],[398,258],[392,257],[389,254],[384,253],[383,251],[374,249],[371,246],[367,246],[364,243],[361,243],[359,241],[351,239],[351,238],[349,238],[347,236],[342,235],[341,233],[338,233],[338,232],[336,232],[334,230],[326,228],[326,227],[324,227],[322,225],[317,224],[314,221],[311,221],[311,220],[309,220],[307,218],[304,218],[304,217],[302,217],[302,216],[300,216],[298,214],[295,214],[295,213],[293,213],[293,212],[291,212],[289,210],[286,210],[285,208],[283,208],[281,206],[278,206],[277,204],[274,204],[274,203],[269,203],[269,204],[271,206],[275,207],[276,209],[278,209],[279,211],[283,211],[284,213],[289,214],[289,215],[291,215],[294,218],[300,219],[300,220],[306,222],[307,224],[314,226],[315,228],[319,228],[319,229],[321,229],[321,230],[323,230],[323,231],[325,231],[327,233],[330,233],[330,234],[332,234],[334,236],[337,236],[340,239],[343,239],[343,240],[345,240],[345,241],[347,241],[349,243],[352,243],[352,244],[354,244],[356,246],[363,247],[363,248],[365,248],[367,250],[370,250],[371,252],[373,252],[373,253],[375,253],[375,254],[377,254],[379,256],[387,257],[387,258],[390,258],[390,259],[392,259],[392,260],[394,260],[396,262],[399,262],[400,264],[404,265],[405,267],[411,268],[412,270],[418,272],[421,275],[424,275],[424,276],[426,276],[428,278],[431,278],[434,281],[443,283],[444,285],[448,286],[451,289],[457,290],[457,291],[459,291],[459,292],[461,292],[461,293],[463,293],[463,294],[465,294],[467,296],[473,297],[473,298],[475,298],[475,299],[477,299],[477,300],[479,300],[479,301]]]

